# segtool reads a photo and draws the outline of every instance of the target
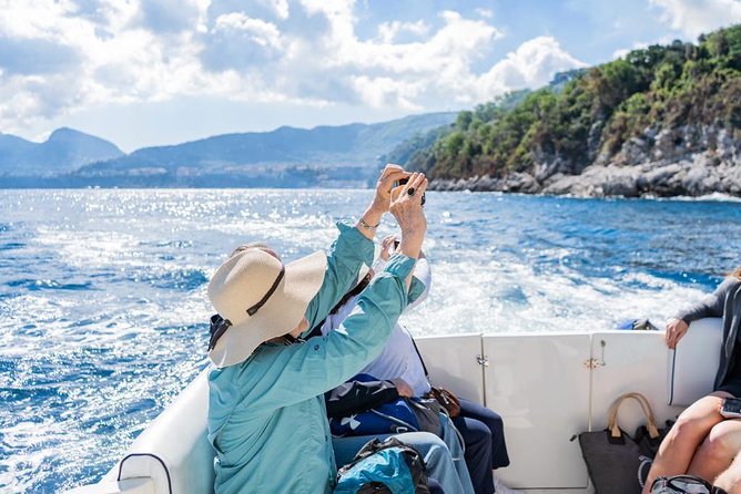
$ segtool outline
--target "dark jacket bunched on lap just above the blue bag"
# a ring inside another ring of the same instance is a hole
[[[347,381],[324,393],[327,416],[342,418],[364,412],[399,398],[392,381]]]

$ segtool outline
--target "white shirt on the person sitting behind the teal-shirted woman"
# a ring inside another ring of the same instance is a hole
[[[406,310],[422,303],[427,294],[429,294],[432,272],[427,259],[420,258],[417,260],[414,277],[424,284],[425,289],[414,302],[407,306]],[[322,325],[322,335],[326,335],[339,327],[342,321],[355,309],[357,297],[351,298],[337,310],[337,313],[327,317]],[[419,360],[419,356],[414,348],[412,335],[398,322],[392,329],[392,335],[380,354],[373,362],[368,363],[361,373],[373,375],[379,380],[402,378],[409,384],[415,397],[422,397],[428,393],[430,389],[422,360]]]

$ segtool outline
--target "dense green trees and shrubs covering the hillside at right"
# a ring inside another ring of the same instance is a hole
[[[620,153],[626,142],[648,127],[684,124],[741,138],[741,25],[702,35],[698,44],[633,50],[515,106],[493,102],[461,112],[408,165],[433,178],[535,175],[542,164],[550,174],[575,175],[593,163],[631,164]]]

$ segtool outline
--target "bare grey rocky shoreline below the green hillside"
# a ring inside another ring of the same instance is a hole
[[[741,196],[741,130],[648,127],[623,143],[617,154],[597,155],[579,175],[569,174],[557,156],[537,156],[536,162],[531,173],[435,181],[432,188],[588,197]]]

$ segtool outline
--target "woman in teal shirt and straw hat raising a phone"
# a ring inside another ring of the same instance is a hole
[[[392,184],[408,177],[394,189]],[[329,492],[336,466],[323,393],[375,358],[407,303],[409,277],[425,238],[427,179],[389,165],[354,228],[341,225],[329,256],[284,265],[270,247],[237,249],[209,284],[209,441],[214,490],[223,493]],[[376,276],[359,310],[334,331],[296,342],[324,319],[373,259],[376,227],[390,210],[404,231],[399,254]],[[221,322],[220,322],[221,321]]]

